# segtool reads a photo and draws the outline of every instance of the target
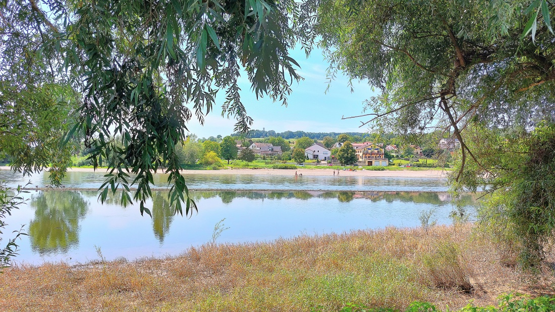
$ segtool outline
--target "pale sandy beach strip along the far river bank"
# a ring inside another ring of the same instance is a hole
[[[7,166],[0,167],[0,170],[10,170]],[[326,176],[334,175],[334,169],[222,169],[222,170],[181,170],[185,175],[189,174],[250,174],[250,175],[289,175],[302,174],[306,176]],[[337,170],[335,170],[337,172]],[[70,168],[68,172],[94,172],[92,168]],[[105,173],[106,169],[97,169],[98,173]],[[160,171],[162,172],[162,171]],[[375,177],[397,177],[397,178],[445,178],[445,170],[340,170],[339,176],[375,176]]]

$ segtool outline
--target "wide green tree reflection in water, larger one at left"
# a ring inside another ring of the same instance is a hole
[[[29,223],[31,248],[39,254],[66,253],[79,243],[79,219],[89,202],[77,191],[46,191],[31,200],[34,219]]]

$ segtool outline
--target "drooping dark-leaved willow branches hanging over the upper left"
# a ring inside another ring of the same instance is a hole
[[[82,136],[95,168],[115,155],[100,198],[122,189],[127,204],[135,186],[133,200],[148,214],[144,203],[160,170],[169,173],[176,212],[183,213],[182,204],[185,214],[196,209],[175,155],[188,122],[204,124],[216,93],[224,92],[221,115],[247,131],[252,119],[239,95],[241,71],[257,97],[286,105],[290,84],[300,79],[289,50],[307,44],[309,33],[292,0],[8,0],[0,10],[3,65],[19,70],[16,54],[22,64],[40,60],[34,76],[75,90],[81,103],[62,143]]]

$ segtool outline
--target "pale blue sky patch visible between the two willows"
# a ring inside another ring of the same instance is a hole
[[[247,113],[253,117],[253,129],[265,128],[266,131],[306,131],[306,132],[365,132],[359,128],[360,118],[344,119],[341,116],[360,115],[363,101],[376,93],[365,82],[354,82],[354,92],[348,86],[349,79],[339,73],[332,81],[327,93],[326,69],[328,63],[322,52],[314,49],[307,59],[304,51],[295,49],[291,53],[301,66],[299,73],[305,80],[294,82],[287,107],[273,102],[268,97],[256,100],[250,91],[246,75],[240,79],[241,98]],[[224,93],[221,93],[223,95]],[[204,126],[196,119],[191,119],[188,128],[199,138],[210,136],[227,136],[233,133],[234,119],[221,117],[223,96],[219,95],[218,108],[205,118]]]

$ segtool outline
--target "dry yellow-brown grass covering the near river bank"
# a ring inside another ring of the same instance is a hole
[[[0,275],[0,308],[334,311],[346,303],[402,309],[415,300],[457,308],[493,304],[504,292],[552,290],[551,272],[532,279],[499,264],[503,256],[470,225],[204,245],[166,259],[8,269]]]

